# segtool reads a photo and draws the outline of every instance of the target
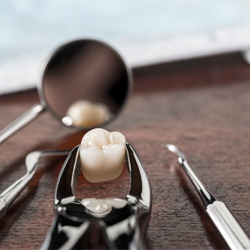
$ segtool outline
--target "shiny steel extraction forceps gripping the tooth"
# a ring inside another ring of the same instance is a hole
[[[42,249],[144,248],[152,194],[136,151],[126,143],[131,181],[128,195],[125,199],[94,199],[97,203],[106,201],[105,211],[100,212],[87,205],[93,198],[79,200],[74,194],[81,169],[79,148],[78,145],[71,151],[59,174],[54,198],[56,217]]]

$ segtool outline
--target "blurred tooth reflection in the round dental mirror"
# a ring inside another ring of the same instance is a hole
[[[74,102],[67,111],[72,124],[78,127],[92,127],[103,124],[110,118],[110,112],[105,104],[86,100]]]

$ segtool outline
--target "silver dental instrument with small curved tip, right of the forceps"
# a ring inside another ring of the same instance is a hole
[[[178,156],[179,164],[193,183],[206,208],[208,216],[231,249],[250,249],[250,240],[226,205],[216,200],[190,168],[184,153],[175,145],[166,144],[170,152]]]

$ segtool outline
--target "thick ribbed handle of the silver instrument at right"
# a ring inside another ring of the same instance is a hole
[[[214,201],[206,212],[231,249],[250,249],[249,238],[223,202]]]

